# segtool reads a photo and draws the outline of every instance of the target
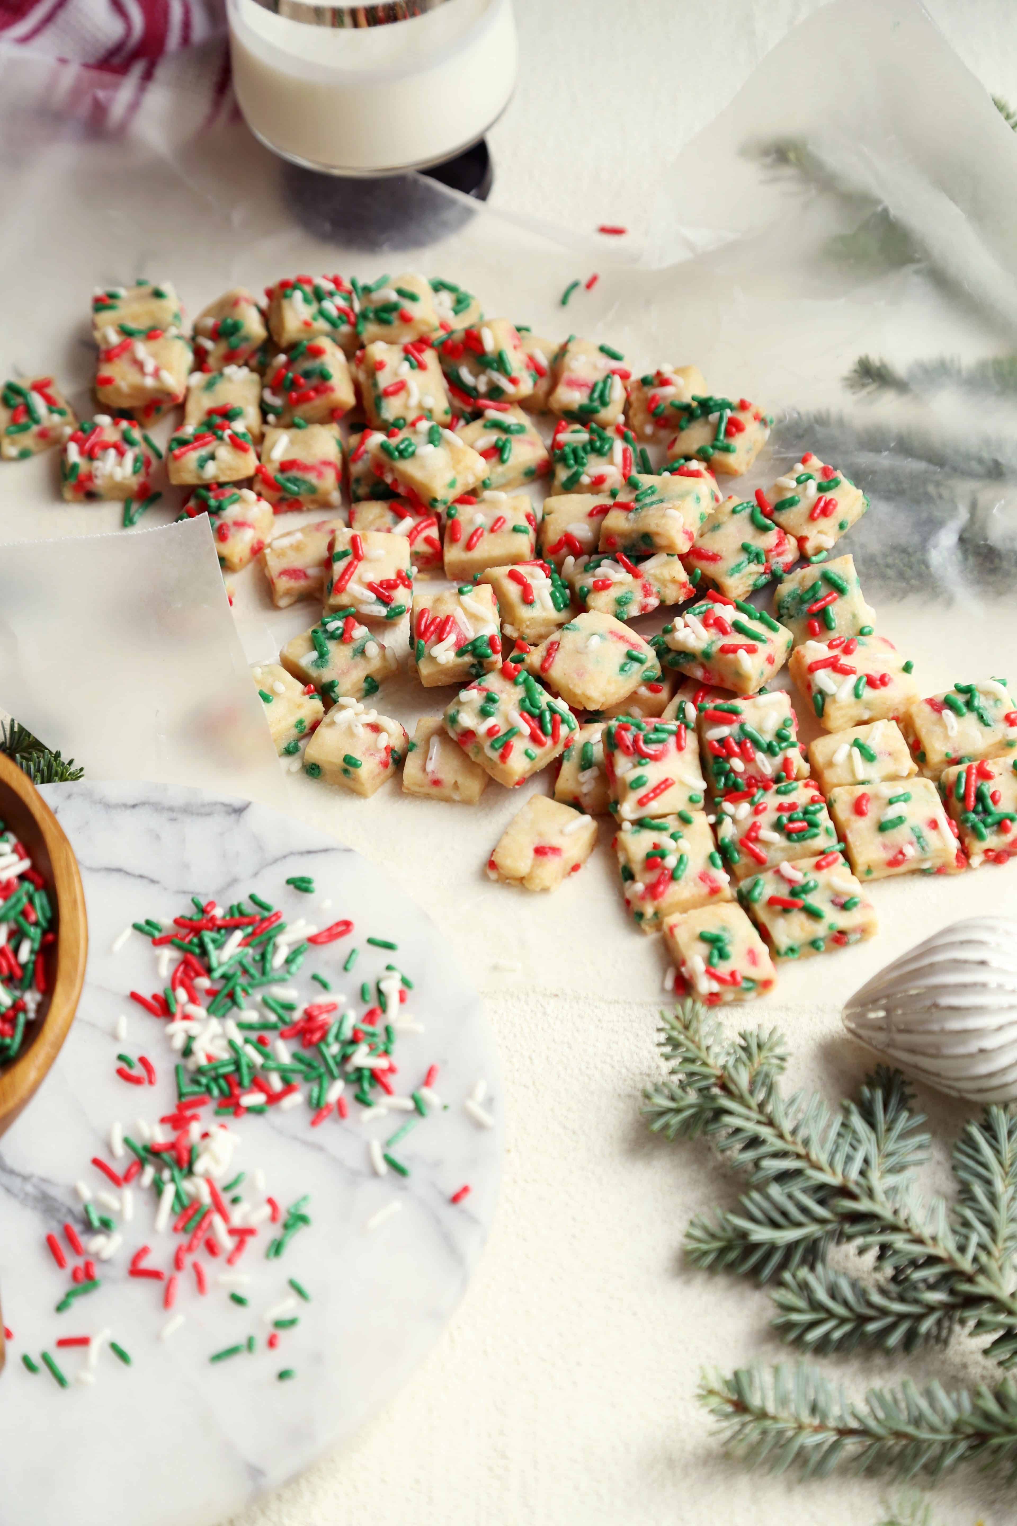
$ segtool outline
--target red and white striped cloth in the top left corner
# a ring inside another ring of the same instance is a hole
[[[0,0],[0,63],[26,53],[47,104],[93,131],[151,116],[180,139],[233,110],[223,0]]]

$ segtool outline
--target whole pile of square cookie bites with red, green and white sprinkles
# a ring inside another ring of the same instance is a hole
[[[489,876],[552,891],[611,815],[628,914],[709,1004],[871,937],[869,881],[1012,853],[1005,679],[919,696],[833,554],[863,491],[805,452],[724,496],[772,420],[695,366],[637,372],[416,273],[232,290],[191,333],[169,282],[139,282],[98,291],[93,320],[98,410],[8,382],[0,452],[59,447],[64,497],[124,499],[125,523],[165,475],[226,572],[258,563],[276,606],[314,606],[253,668],[291,768],[459,804],[547,769]],[[149,429],[180,406],[163,452]],[[633,627],[666,606],[659,633]],[[438,691],[412,739],[381,693],[407,623]],[[807,751],[785,665],[823,728]]]

